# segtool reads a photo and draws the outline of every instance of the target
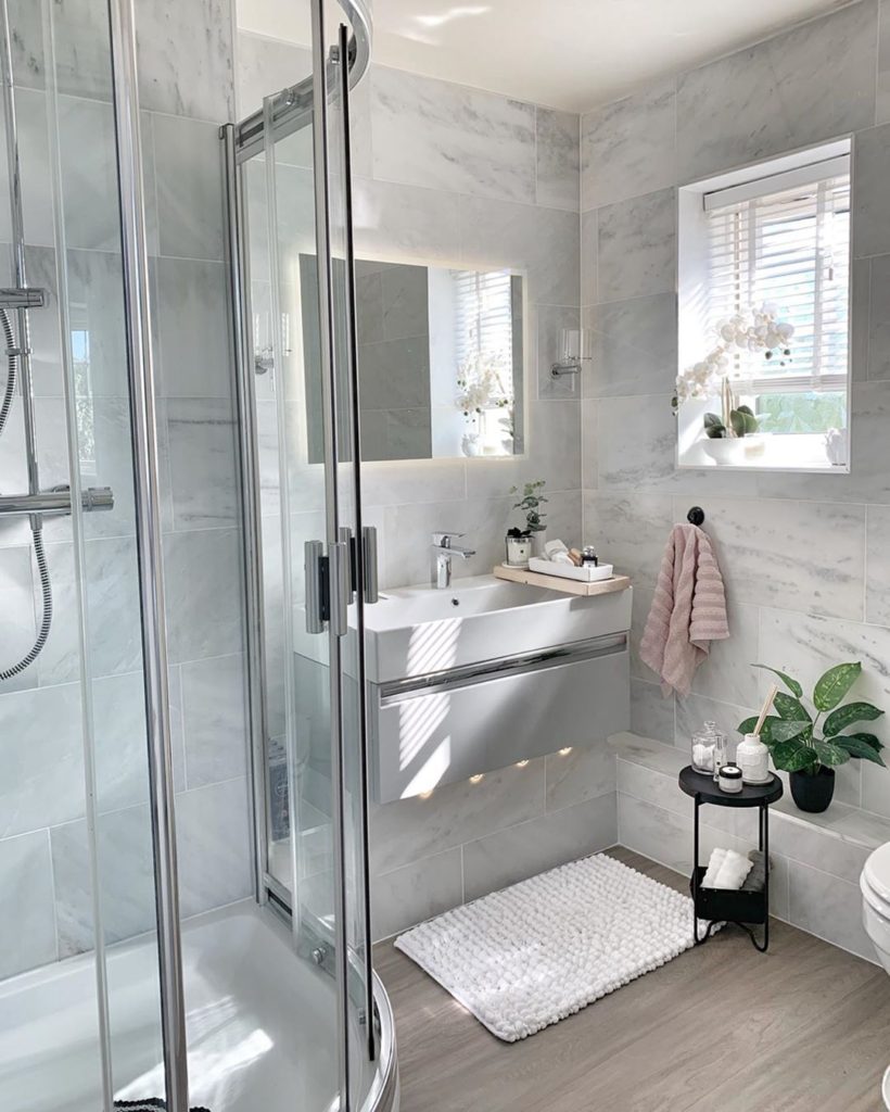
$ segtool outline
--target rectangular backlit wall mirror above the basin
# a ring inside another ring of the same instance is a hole
[[[316,259],[300,255],[307,411],[320,411]],[[360,259],[356,318],[362,458],[513,456],[523,449],[522,278]],[[309,461],[322,459],[308,429]]]

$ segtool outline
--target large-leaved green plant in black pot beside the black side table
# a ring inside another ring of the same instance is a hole
[[[858,723],[873,722],[883,714],[871,703],[843,703],[862,672],[858,661],[829,668],[816,682],[807,703],[797,679],[766,664],[754,667],[774,673],[790,692],[776,695],[777,714],[763,723],[760,739],[769,748],[773,765],[790,774],[791,795],[801,811],[827,810],[834,794],[834,770],[851,758],[886,767],[883,745],[874,734],[860,729],[847,733]],[[739,733],[750,734],[756,725],[756,718],[746,718]]]

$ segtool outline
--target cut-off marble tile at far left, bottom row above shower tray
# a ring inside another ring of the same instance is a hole
[[[56,961],[56,909],[49,834],[0,838],[0,976]]]

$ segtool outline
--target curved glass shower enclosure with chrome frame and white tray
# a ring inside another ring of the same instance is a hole
[[[224,123],[206,3],[0,0],[10,1112],[398,1103],[354,385],[371,23],[362,0],[301,7],[306,72]]]

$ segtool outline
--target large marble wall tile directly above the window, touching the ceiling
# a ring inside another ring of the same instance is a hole
[[[864,0],[683,73],[677,86],[681,179],[869,127],[877,20],[877,0]]]

